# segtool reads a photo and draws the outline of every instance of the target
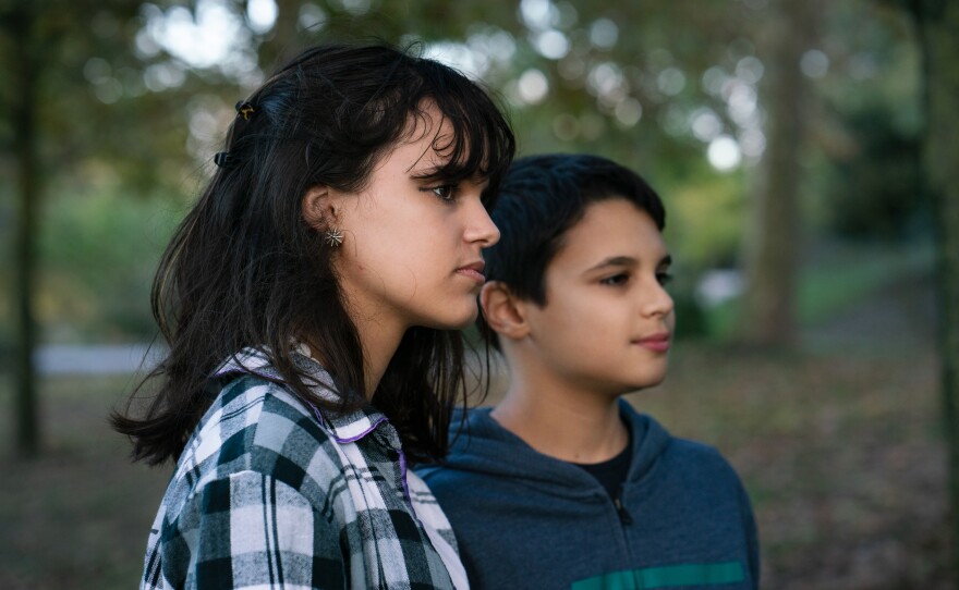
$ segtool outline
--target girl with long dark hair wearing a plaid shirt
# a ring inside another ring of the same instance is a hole
[[[509,126],[385,46],[308,49],[236,109],[154,283],[159,391],[112,417],[177,462],[142,586],[462,587],[408,464],[447,451]]]

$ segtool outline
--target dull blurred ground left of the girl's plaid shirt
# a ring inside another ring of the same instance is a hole
[[[106,416],[128,378],[40,384],[44,448],[34,460],[0,445],[0,588],[131,588],[168,474],[128,460]],[[10,407],[2,382],[0,404]],[[2,432],[12,432],[2,413]]]

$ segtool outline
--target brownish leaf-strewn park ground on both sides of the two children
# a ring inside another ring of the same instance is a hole
[[[764,588],[955,587],[931,292],[898,283],[789,354],[682,342],[667,382],[629,396],[741,474]],[[43,455],[15,459],[0,440],[0,588],[135,586],[169,467],[131,465],[107,427],[130,384],[47,379]],[[0,382],[0,407],[9,395]]]

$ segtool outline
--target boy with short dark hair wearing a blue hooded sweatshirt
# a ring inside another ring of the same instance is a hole
[[[663,204],[592,156],[513,163],[493,214],[481,331],[510,383],[422,471],[474,588],[757,588],[739,478],[619,400],[666,376]]]

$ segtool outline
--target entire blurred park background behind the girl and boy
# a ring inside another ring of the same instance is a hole
[[[521,155],[660,193],[680,341],[629,398],[739,470],[764,588],[954,588],[946,5],[0,0],[0,588],[136,583],[170,467],[106,416],[156,263],[234,102],[343,37],[416,42],[497,95]]]

